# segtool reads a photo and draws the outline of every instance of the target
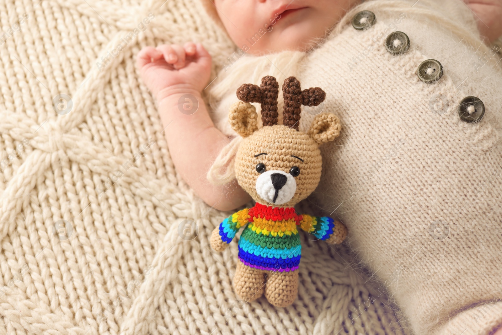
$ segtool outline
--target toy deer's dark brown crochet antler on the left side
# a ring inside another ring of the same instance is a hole
[[[277,125],[277,97],[279,84],[273,76],[262,78],[260,86],[242,84],[237,88],[237,97],[244,102],[259,102],[262,105],[262,124],[264,126]]]

